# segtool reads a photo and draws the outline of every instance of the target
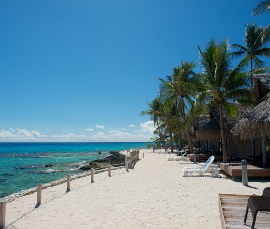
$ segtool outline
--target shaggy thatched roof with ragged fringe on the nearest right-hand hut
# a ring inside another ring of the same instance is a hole
[[[251,134],[255,141],[260,141],[261,135],[270,139],[270,94],[238,121],[235,132],[243,141],[250,141]]]

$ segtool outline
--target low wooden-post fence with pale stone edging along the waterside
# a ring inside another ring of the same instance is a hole
[[[78,173],[78,174],[74,174],[74,175],[68,174],[66,177],[60,178],[58,180],[55,180],[55,181],[52,181],[49,183],[45,183],[45,184],[38,184],[37,187],[29,188],[29,189],[23,190],[21,192],[15,193],[15,194],[11,194],[9,196],[6,196],[6,197],[0,199],[0,228],[4,228],[6,225],[5,221],[6,221],[6,204],[7,203],[15,201],[15,199],[18,199],[22,196],[30,195],[30,194],[37,192],[37,204],[40,205],[41,200],[42,200],[42,189],[47,189],[49,187],[53,187],[53,186],[56,186],[59,184],[64,184],[65,182],[67,182],[67,190],[70,190],[71,189],[71,181],[75,180],[75,179],[79,179],[79,178],[86,177],[86,176],[90,175],[90,177],[91,177],[90,183],[93,183],[94,182],[94,174],[98,174],[98,173],[102,173],[104,171],[107,171],[108,176],[111,177],[112,170],[122,169],[122,168],[126,168],[126,171],[128,172],[129,167],[132,166],[135,162],[137,162],[139,160],[139,153],[140,153],[139,148],[127,149],[127,150],[120,152],[120,154],[125,155],[125,162],[124,163],[113,164],[113,165],[109,164],[107,166],[98,168],[97,170],[91,168],[90,171],[85,171],[83,173]],[[143,157],[144,157],[144,153],[143,153]],[[120,166],[120,165],[122,165],[122,166]],[[114,167],[114,166],[117,166],[117,167]]]

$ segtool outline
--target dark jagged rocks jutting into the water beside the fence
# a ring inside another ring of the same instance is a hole
[[[121,166],[117,164],[125,163],[125,155],[120,154],[120,151],[109,151],[111,154],[102,159],[96,159],[89,162],[89,165],[84,165],[80,167],[82,170],[90,170],[91,168],[99,169],[108,166],[109,164],[114,165],[115,167]]]

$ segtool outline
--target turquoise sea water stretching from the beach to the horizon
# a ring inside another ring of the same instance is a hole
[[[136,147],[146,148],[146,143],[0,143],[0,198],[81,173],[80,166],[109,156],[109,151]]]

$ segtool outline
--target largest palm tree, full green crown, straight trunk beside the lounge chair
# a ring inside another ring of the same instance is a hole
[[[248,78],[243,72],[245,62],[240,62],[234,69],[231,68],[232,55],[229,53],[228,41],[215,43],[211,40],[205,51],[202,51],[199,46],[198,49],[203,70],[203,83],[200,87],[202,91],[196,97],[196,104],[208,102],[219,108],[223,161],[225,161],[227,148],[224,109],[228,110],[230,116],[235,116],[236,107],[232,102],[250,95]]]

